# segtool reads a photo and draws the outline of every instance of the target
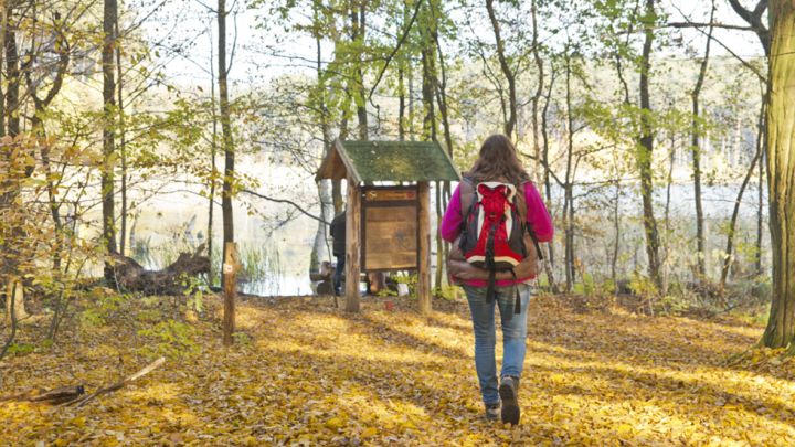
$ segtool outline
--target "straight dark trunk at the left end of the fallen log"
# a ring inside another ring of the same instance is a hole
[[[114,201],[114,152],[116,127],[116,23],[118,21],[118,4],[116,0],[105,0],[103,15],[103,167],[102,167],[102,196],[103,196],[103,238],[107,253],[117,253],[116,248],[116,211]],[[105,279],[115,284],[113,266],[105,263]]]

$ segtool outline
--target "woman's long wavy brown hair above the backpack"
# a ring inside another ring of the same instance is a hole
[[[495,134],[480,146],[480,155],[469,172],[464,177],[476,183],[481,181],[501,180],[513,184],[530,181],[517,155],[513,143],[501,134]]]

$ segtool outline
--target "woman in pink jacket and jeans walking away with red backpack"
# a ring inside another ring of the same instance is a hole
[[[515,224],[519,222],[521,224]],[[553,233],[547,206],[511,141],[504,135],[488,137],[471,170],[464,173],[464,180],[454,191],[442,221],[442,237],[453,243],[448,274],[463,286],[469,302],[475,368],[488,419],[519,423],[518,389],[524,364],[528,283],[536,277],[538,242],[551,241]],[[520,238],[520,245],[516,245],[516,237]],[[521,248],[511,251],[509,240],[513,248]],[[508,268],[498,269],[498,264]],[[499,382],[495,360],[495,306],[499,307],[502,323]]]

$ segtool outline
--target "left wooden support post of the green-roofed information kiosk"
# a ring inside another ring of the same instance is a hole
[[[348,178],[348,207],[346,209],[346,310],[358,312],[360,308],[359,276],[361,274],[361,190],[359,183]]]

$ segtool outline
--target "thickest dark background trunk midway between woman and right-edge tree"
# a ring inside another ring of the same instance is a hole
[[[646,0],[646,17],[655,17],[655,1]],[[643,196],[644,230],[646,233],[646,255],[648,257],[648,273],[650,279],[657,287],[660,283],[659,263],[659,235],[657,221],[654,216],[654,179],[651,173],[651,157],[654,153],[654,129],[648,114],[651,111],[649,95],[649,74],[651,71],[651,44],[654,42],[654,29],[647,25],[644,31],[646,39],[643,46],[640,67],[640,116],[642,134],[640,145],[636,151],[636,161],[640,172],[640,194]]]

